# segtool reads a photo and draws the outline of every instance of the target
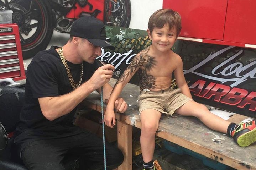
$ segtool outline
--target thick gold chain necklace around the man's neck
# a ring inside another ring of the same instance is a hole
[[[65,68],[66,68],[66,70],[67,70],[68,79],[69,79],[69,82],[70,82],[72,88],[75,89],[75,88],[79,87],[80,84],[81,84],[81,82],[82,82],[82,78],[83,78],[83,62],[82,62],[82,64],[81,64],[80,80],[79,80],[78,84],[76,84],[76,83],[74,82],[73,76],[72,76],[72,74],[71,74],[71,72],[70,72],[70,69],[69,69],[69,67],[68,67],[67,61],[66,61],[66,59],[65,59],[64,56],[63,56],[63,48],[62,48],[62,47],[58,48],[58,54],[59,54],[59,56],[61,57],[61,61],[63,62],[64,66],[65,66]]]

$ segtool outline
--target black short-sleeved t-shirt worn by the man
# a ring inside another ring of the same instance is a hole
[[[40,51],[33,57],[27,68],[25,101],[20,114],[20,121],[15,130],[15,143],[23,149],[28,143],[41,140],[71,136],[84,130],[73,125],[76,109],[53,121],[46,119],[40,109],[38,98],[54,97],[67,94],[73,90],[66,68],[59,54],[51,47]],[[67,61],[67,60],[66,60]],[[75,83],[80,79],[80,64],[67,61]],[[87,81],[98,68],[96,62],[83,62],[82,83]]]

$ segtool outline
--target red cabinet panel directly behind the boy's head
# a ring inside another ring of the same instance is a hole
[[[179,12],[181,36],[223,40],[228,0],[163,0],[163,8]]]

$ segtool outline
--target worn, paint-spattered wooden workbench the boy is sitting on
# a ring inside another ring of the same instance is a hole
[[[114,85],[115,82],[115,79],[111,79],[110,84]],[[138,86],[127,84],[121,97],[126,100],[129,108],[123,114],[116,113],[118,147],[125,157],[124,162],[118,168],[119,170],[132,170],[132,126],[141,128],[137,106],[139,91]],[[101,112],[98,93],[90,94],[81,104]],[[106,105],[104,104],[104,111],[105,109]],[[235,114],[230,118],[230,121],[239,123],[246,118]],[[248,147],[240,147],[231,137],[210,130],[195,117],[180,116],[161,119],[156,136],[235,169],[256,170],[256,143]]]

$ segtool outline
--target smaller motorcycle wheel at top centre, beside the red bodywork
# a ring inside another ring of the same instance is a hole
[[[129,27],[131,20],[131,1],[130,0],[118,0],[119,9],[114,11],[113,0],[105,1],[105,13],[104,13],[104,23],[108,25],[107,22],[116,23],[118,27]]]

